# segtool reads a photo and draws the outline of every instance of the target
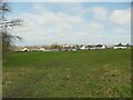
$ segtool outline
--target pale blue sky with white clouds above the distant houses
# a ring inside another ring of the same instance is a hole
[[[10,2],[17,46],[116,44],[131,42],[130,2]]]

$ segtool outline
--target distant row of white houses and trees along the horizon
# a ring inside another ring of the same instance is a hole
[[[119,43],[116,46],[104,46],[104,44],[98,44],[98,46],[86,46],[86,44],[54,44],[50,48],[44,47],[18,47],[14,51],[78,51],[78,50],[95,50],[95,49],[130,49],[130,44],[122,44]]]

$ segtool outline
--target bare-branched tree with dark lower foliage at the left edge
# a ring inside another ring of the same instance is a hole
[[[2,38],[2,54],[11,51],[11,46],[16,39],[21,40],[18,36],[12,36],[9,29],[13,29],[17,26],[22,24],[21,19],[7,20],[7,13],[11,11],[11,8],[7,2],[0,0],[0,38]]]

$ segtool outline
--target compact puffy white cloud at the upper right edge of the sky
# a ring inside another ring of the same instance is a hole
[[[129,26],[131,22],[131,10],[114,10],[110,20],[117,26]]]

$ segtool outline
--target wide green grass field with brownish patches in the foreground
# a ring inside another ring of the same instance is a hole
[[[8,98],[130,98],[131,51],[9,53],[2,84]]]

